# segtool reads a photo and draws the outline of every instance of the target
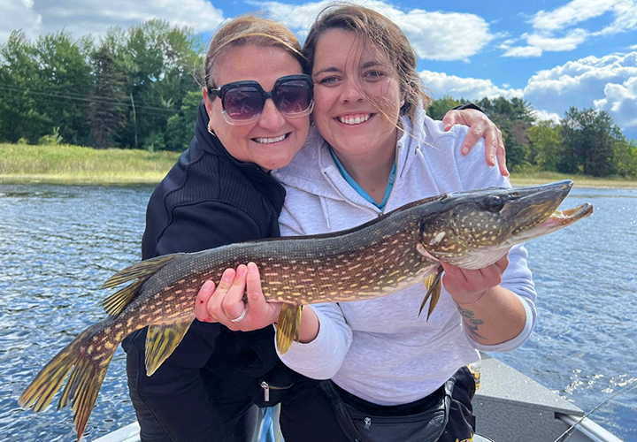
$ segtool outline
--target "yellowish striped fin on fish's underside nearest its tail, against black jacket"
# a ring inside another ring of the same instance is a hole
[[[146,332],[146,376],[152,376],[173,354],[192,322],[192,318],[188,318],[178,323],[149,325]]]

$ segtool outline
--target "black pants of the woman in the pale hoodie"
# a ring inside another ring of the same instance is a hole
[[[449,423],[439,442],[471,439],[475,382],[468,369],[458,370],[451,396]],[[401,407],[401,406],[398,406]],[[318,381],[300,377],[281,404],[280,427],[286,442],[351,442]],[[396,441],[402,442],[402,441]]]

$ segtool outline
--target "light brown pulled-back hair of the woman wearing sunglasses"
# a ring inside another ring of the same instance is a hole
[[[277,47],[286,50],[305,69],[305,57],[301,49],[301,43],[287,27],[256,15],[242,15],[236,19],[226,21],[214,34],[208,44],[206,57],[203,60],[203,72],[205,73],[205,85],[210,90],[218,86],[215,83],[215,67],[223,59],[226,50],[253,44],[262,47]],[[215,95],[211,95],[214,99]]]

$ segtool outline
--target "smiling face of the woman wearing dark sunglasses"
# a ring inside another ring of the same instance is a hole
[[[241,80],[255,80],[265,91],[280,77],[303,73],[301,65],[288,51],[253,44],[225,51],[214,69],[218,86]],[[310,117],[285,118],[272,99],[256,121],[246,126],[230,125],[224,119],[221,100],[203,88],[203,102],[211,119],[211,129],[230,155],[239,161],[256,163],[266,171],[287,165],[301,149],[310,130]]]

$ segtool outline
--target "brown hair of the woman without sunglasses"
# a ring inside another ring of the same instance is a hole
[[[357,4],[331,4],[319,12],[303,45],[303,55],[307,59],[308,72],[314,66],[317,44],[322,34],[330,29],[355,32],[366,42],[383,51],[398,73],[401,94],[405,103],[401,115],[414,118],[418,103],[426,108],[431,98],[416,70],[416,50],[411,47],[407,35],[393,21],[365,6]],[[378,106],[377,106],[378,107]]]

